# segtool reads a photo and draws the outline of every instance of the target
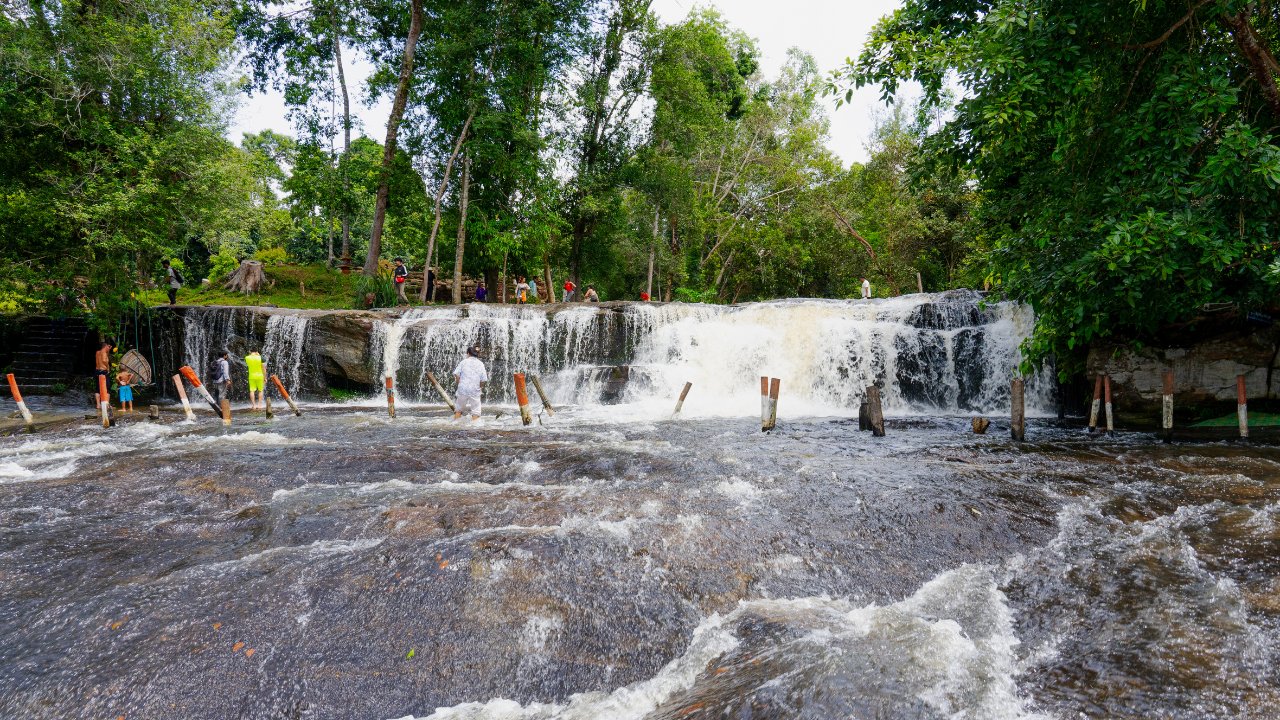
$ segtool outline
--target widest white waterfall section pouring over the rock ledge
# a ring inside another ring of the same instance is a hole
[[[756,378],[771,375],[799,414],[847,414],[873,383],[891,413],[996,413],[1007,409],[1032,320],[1024,306],[983,307],[972,292],[741,306],[468,305],[380,323],[371,357],[402,395],[428,401],[426,374],[445,378],[479,345],[492,377],[543,375],[561,402],[666,402],[687,380],[696,388],[689,411],[744,414],[756,402]],[[490,392],[511,400],[508,386],[499,379]],[[1047,375],[1032,378],[1032,411],[1051,409],[1051,388]]]

